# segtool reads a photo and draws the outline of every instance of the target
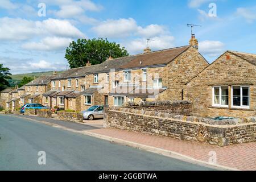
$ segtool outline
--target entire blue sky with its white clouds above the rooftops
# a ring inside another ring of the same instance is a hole
[[[78,38],[108,38],[130,55],[143,52],[147,38],[152,50],[185,46],[187,23],[202,26],[194,32],[210,63],[227,49],[256,53],[254,0],[1,0],[0,63],[14,74],[63,70],[65,48]]]

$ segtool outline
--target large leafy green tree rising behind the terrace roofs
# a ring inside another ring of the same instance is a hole
[[[73,41],[66,49],[65,59],[68,60],[70,68],[84,67],[90,61],[92,65],[100,64],[112,56],[113,58],[129,56],[125,47],[120,47],[108,39],[78,39]]]

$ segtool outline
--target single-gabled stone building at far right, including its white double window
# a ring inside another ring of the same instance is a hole
[[[186,83],[185,98],[202,117],[256,115],[256,55],[226,51]]]

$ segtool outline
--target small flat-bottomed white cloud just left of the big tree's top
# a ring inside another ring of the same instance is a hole
[[[34,51],[59,51],[69,46],[72,39],[59,37],[46,37],[39,43],[29,42],[22,45],[23,49]]]

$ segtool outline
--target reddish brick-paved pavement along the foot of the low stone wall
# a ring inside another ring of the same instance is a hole
[[[217,154],[217,164],[219,165],[240,170],[256,170],[256,142],[218,147],[119,129],[96,129],[89,131],[108,137],[174,151],[197,160],[203,160],[204,162],[208,162],[209,152],[215,151]]]

